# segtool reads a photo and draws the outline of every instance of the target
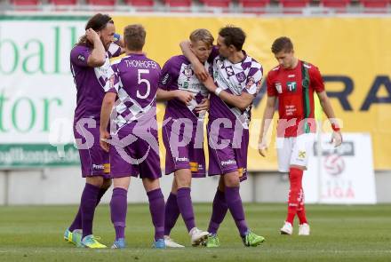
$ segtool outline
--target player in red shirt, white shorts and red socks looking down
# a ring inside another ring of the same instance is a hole
[[[294,56],[293,44],[288,37],[275,39],[272,52],[279,65],[267,75],[267,106],[259,133],[259,154],[266,156],[266,134],[275,114],[275,102],[278,99],[278,170],[289,172],[291,186],[288,215],[281,228],[281,234],[292,234],[293,219],[298,215],[299,234],[308,235],[309,226],[301,181],[303,171],[307,170],[308,152],[315,139],[314,92],[331,122],[332,141],[335,147],[342,143],[342,135],[330,100],[324,91],[322,75],[318,68]]]

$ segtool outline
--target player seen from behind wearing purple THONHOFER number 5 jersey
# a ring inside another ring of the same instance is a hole
[[[142,52],[145,37],[146,31],[141,25],[124,28],[126,56],[112,66],[116,77],[101,109],[100,144],[109,152],[110,176],[114,184],[110,202],[111,221],[116,230],[114,249],[125,247],[127,190],[131,177],[139,175],[147,191],[155,226],[154,247],[165,248],[164,196],[159,184],[162,171],[156,122],[156,91],[161,69]],[[115,103],[109,134],[104,127],[110,121]]]

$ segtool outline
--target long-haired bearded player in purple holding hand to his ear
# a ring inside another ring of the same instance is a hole
[[[85,26],[85,35],[70,52],[70,69],[77,89],[74,134],[82,175],[86,179],[76,218],[64,239],[87,248],[106,248],[92,234],[95,207],[111,185],[108,154],[100,148],[100,106],[108,79],[114,75],[109,58],[121,54],[114,44],[115,27],[108,15],[98,13]]]

